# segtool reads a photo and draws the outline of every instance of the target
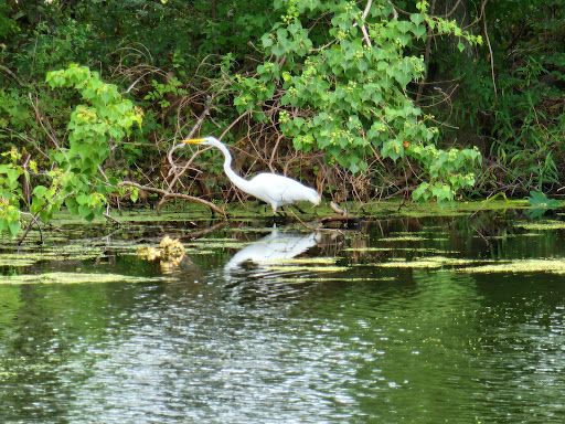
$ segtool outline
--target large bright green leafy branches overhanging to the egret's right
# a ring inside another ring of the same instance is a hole
[[[425,72],[423,59],[409,51],[425,40],[426,25],[471,42],[479,38],[430,18],[425,2],[408,20],[391,19],[393,8],[384,0],[365,13],[345,0],[275,3],[286,13],[262,38],[265,63],[257,76],[235,78],[241,95],[234,104],[241,113],[265,119],[264,105],[279,99],[280,128],[295,148],[323,149],[330,163],[353,173],[367,171],[367,158],[375,155],[416,159],[428,179],[414,191],[416,200],[431,197],[446,204],[457,190],[475,183],[480,153],[436,148],[430,117],[406,93]],[[315,15],[323,17],[323,32],[310,29]]]

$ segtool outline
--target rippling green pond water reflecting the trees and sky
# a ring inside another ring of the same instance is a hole
[[[189,253],[166,282],[0,286],[0,422],[562,423],[563,275],[380,266],[565,253],[561,230],[504,223],[489,225],[493,237],[476,224],[391,220],[290,241],[238,233],[268,239]],[[291,246],[296,257],[339,258],[234,261],[237,251],[288,258]],[[108,255],[32,269],[161,275]]]

